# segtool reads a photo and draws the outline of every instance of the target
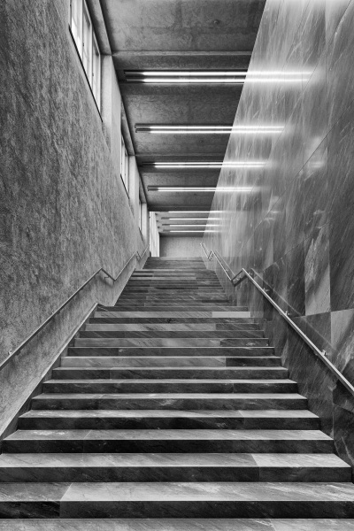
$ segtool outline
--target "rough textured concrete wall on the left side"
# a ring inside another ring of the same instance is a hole
[[[102,121],[68,29],[69,0],[0,4],[0,360],[99,267],[144,242],[119,176],[120,96],[103,61]],[[0,432],[59,347],[115,287],[97,279],[0,373]]]

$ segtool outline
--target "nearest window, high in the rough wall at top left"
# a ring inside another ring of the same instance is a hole
[[[70,28],[98,109],[101,100],[101,54],[86,0],[71,0]]]

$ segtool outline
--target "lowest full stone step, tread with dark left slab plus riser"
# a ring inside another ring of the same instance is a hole
[[[6,518],[349,518],[354,485],[312,482],[2,483]]]

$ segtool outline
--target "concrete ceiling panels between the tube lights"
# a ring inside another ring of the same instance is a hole
[[[229,135],[153,135],[135,132],[135,125],[231,126],[242,85],[129,83],[124,71],[247,70],[266,0],[101,0],[101,4],[131,150],[150,211],[209,211],[213,192],[149,188],[215,187],[219,169],[157,169],[146,163],[222,161]],[[168,230],[160,228],[165,234]]]

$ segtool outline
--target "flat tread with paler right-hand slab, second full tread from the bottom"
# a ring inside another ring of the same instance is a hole
[[[66,466],[111,466],[111,467],[340,467],[350,468],[335,454],[293,454],[293,453],[4,453],[0,455],[0,470],[5,467],[66,467]]]

